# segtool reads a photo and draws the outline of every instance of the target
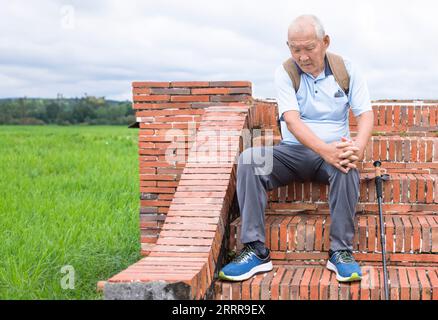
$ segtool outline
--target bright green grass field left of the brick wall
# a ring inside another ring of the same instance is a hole
[[[100,299],[97,281],[140,259],[137,143],[120,126],[0,126],[0,299]]]

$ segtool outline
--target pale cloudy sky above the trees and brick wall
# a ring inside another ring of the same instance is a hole
[[[0,98],[131,100],[132,81],[245,80],[275,98],[287,28],[315,14],[371,98],[438,99],[433,0],[0,0]]]

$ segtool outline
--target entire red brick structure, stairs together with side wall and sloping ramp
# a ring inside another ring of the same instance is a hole
[[[269,193],[266,235],[274,270],[229,283],[217,273],[241,248],[236,159],[247,147],[269,144],[266,133],[279,142],[276,103],[253,99],[245,81],[134,82],[133,94],[144,258],[99,283],[106,299],[382,299],[375,160],[391,176],[383,194],[391,299],[438,299],[437,103],[373,104],[375,131],[359,167],[354,255],[364,272],[360,283],[338,283],[325,268],[329,189],[318,183]],[[206,139],[218,130],[227,134]],[[354,136],[351,113],[350,130]],[[169,160],[169,148],[180,144],[183,160]],[[218,145],[228,149],[226,157],[199,149]]]

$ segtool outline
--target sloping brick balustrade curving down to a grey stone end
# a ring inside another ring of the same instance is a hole
[[[248,108],[205,110],[157,243],[146,258],[104,284],[105,299],[201,299],[206,295],[229,224],[235,159],[248,124]],[[226,134],[219,136],[219,129]],[[226,157],[211,153],[218,141],[227,147]]]

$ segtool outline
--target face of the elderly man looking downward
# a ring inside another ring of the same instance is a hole
[[[314,77],[324,70],[324,57],[329,44],[327,35],[318,39],[314,30],[289,34],[287,42],[292,58],[301,70]]]

